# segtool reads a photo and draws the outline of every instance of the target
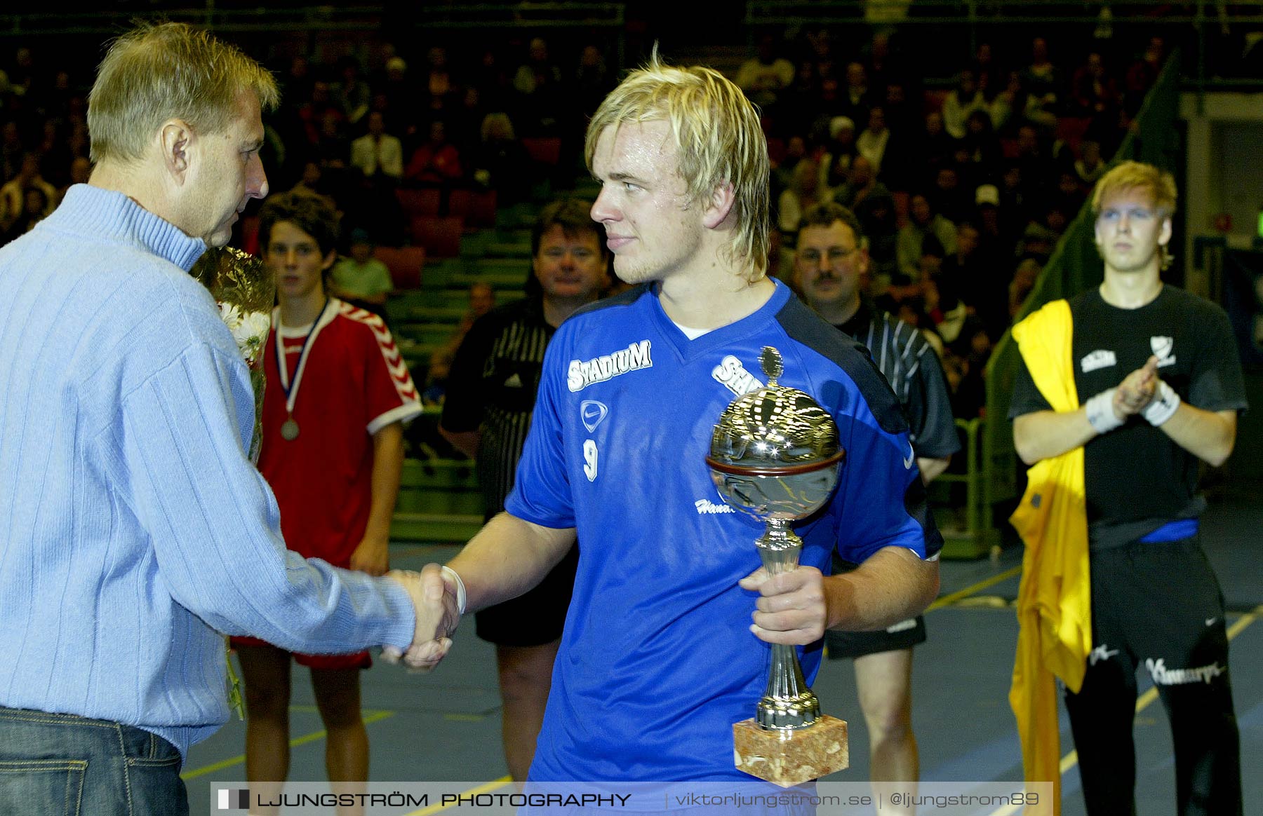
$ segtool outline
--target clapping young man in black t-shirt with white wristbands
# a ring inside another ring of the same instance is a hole
[[[1041,356],[1041,338],[1014,329],[1018,455],[1084,452],[1091,652],[1065,700],[1094,816],[1134,812],[1139,666],[1171,719],[1178,812],[1242,813],[1224,603],[1199,542],[1196,484],[1199,459],[1228,459],[1247,404],[1228,315],[1159,277],[1175,199],[1171,175],[1151,165],[1105,174],[1092,195],[1105,280],[1068,303],[1071,358]],[[1057,364],[1072,370],[1076,410],[1053,410]]]

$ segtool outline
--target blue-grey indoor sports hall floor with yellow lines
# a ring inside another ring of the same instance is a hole
[[[1259,531],[1263,502],[1257,486],[1230,491],[1211,503],[1204,541],[1229,607],[1233,691],[1242,733],[1245,812],[1263,813],[1263,568]],[[448,546],[395,546],[392,565],[419,568],[443,561]],[[938,602],[926,614],[927,643],[917,648],[913,724],[926,781],[1014,781],[1021,754],[1008,706],[1017,623],[1021,547],[997,561],[945,561]],[[364,716],[375,781],[506,778],[499,742],[494,653],[467,622],[447,661],[431,675],[408,675],[380,661],[364,676]],[[1140,816],[1175,812],[1175,777],[1166,714],[1147,679],[1137,702],[1137,802]],[[829,661],[815,682],[827,714],[849,721],[851,767],[831,779],[868,778],[868,733],[855,699],[851,666]],[[751,700],[751,710],[754,701]],[[294,671],[290,779],[325,778],[325,742],[307,673]],[[244,723],[232,720],[193,748],[184,768],[191,812],[207,813],[211,782],[242,781]],[[1079,772],[1062,714],[1065,816],[1082,816]],[[991,816],[991,815],[988,815]],[[999,816],[999,813],[994,815]]]

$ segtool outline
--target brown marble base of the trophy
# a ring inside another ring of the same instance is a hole
[[[753,718],[734,723],[733,749],[739,771],[783,788],[850,764],[846,721],[827,714],[796,731],[765,731]]]

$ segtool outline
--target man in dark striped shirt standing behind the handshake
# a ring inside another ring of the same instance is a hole
[[[513,489],[548,341],[608,283],[605,230],[591,219],[591,202],[576,199],[543,208],[532,231],[527,296],[475,323],[452,362],[440,430],[476,459],[488,520],[504,510]],[[495,643],[504,753],[518,781],[527,778],[534,757],[577,546],[538,586],[475,614],[477,636]]]

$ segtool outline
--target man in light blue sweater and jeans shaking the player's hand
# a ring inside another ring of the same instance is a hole
[[[187,813],[183,755],[229,713],[221,633],[346,652],[455,626],[437,568],[287,551],[246,457],[249,373],[187,271],[266,194],[275,101],[205,33],[133,32],[90,97],[90,183],[0,250],[0,812]]]

